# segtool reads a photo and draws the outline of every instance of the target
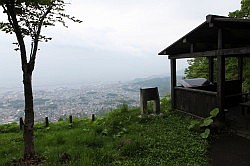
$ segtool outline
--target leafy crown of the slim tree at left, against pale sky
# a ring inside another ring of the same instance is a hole
[[[0,0],[0,5],[6,6],[6,0]],[[63,24],[67,27],[65,19],[69,19],[73,22],[80,23],[74,16],[64,14],[65,3],[64,0],[18,0],[14,1],[14,5],[11,9],[5,7],[7,15],[7,10],[16,12],[17,24],[15,26],[20,27],[21,34],[23,38],[26,36],[34,39],[35,36],[39,38],[39,42],[48,42],[51,38],[43,36],[38,29],[42,27],[55,26],[56,23]],[[11,18],[13,19],[13,18]],[[11,20],[13,22],[13,20]],[[14,27],[12,27],[10,22],[0,22],[0,31],[6,33],[15,33]]]

